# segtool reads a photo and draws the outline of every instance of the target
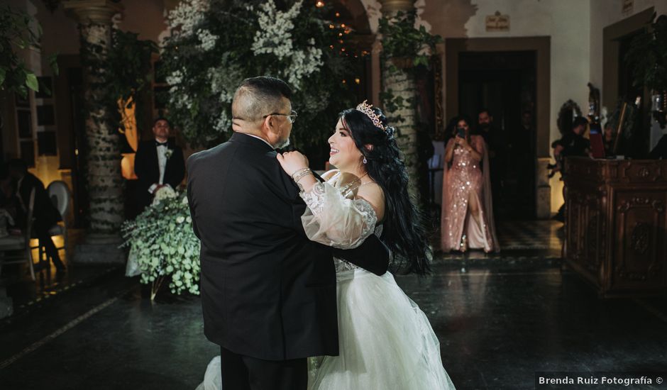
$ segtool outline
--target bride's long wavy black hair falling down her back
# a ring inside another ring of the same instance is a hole
[[[431,247],[426,241],[421,212],[408,194],[409,177],[394,138],[395,128],[387,126],[380,108],[373,108],[385,130],[375,125],[365,113],[348,109],[340,113],[343,126],[366,159],[366,172],[385,193],[385,219],[382,241],[392,251],[392,268],[397,272],[427,274],[431,267]],[[365,145],[373,145],[368,150]]]

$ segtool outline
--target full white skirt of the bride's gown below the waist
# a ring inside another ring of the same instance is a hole
[[[310,390],[454,389],[428,318],[392,274],[337,279],[340,355],[311,360]]]

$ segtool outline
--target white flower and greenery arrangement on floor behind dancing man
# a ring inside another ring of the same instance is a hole
[[[123,238],[130,247],[128,262],[136,265],[141,283],[149,284],[155,299],[165,279],[173,294],[199,294],[199,239],[184,193],[162,187],[134,221],[123,224]]]

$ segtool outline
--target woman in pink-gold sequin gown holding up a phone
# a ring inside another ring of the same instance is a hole
[[[445,148],[441,247],[447,252],[498,252],[493,225],[491,182],[484,138],[470,135],[470,121],[458,118],[457,133]]]

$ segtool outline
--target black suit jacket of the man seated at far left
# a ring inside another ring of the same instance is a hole
[[[21,185],[18,187],[18,196],[21,197],[21,204],[25,207],[23,215],[19,218],[21,218],[21,221],[26,218],[30,204],[30,193],[33,189],[35,189],[35,206],[33,210],[35,230],[48,230],[58,221],[62,221],[62,217],[60,216],[60,211],[55,208],[53,201],[48,196],[44,184],[30,172],[26,173],[26,176],[21,180]]]

